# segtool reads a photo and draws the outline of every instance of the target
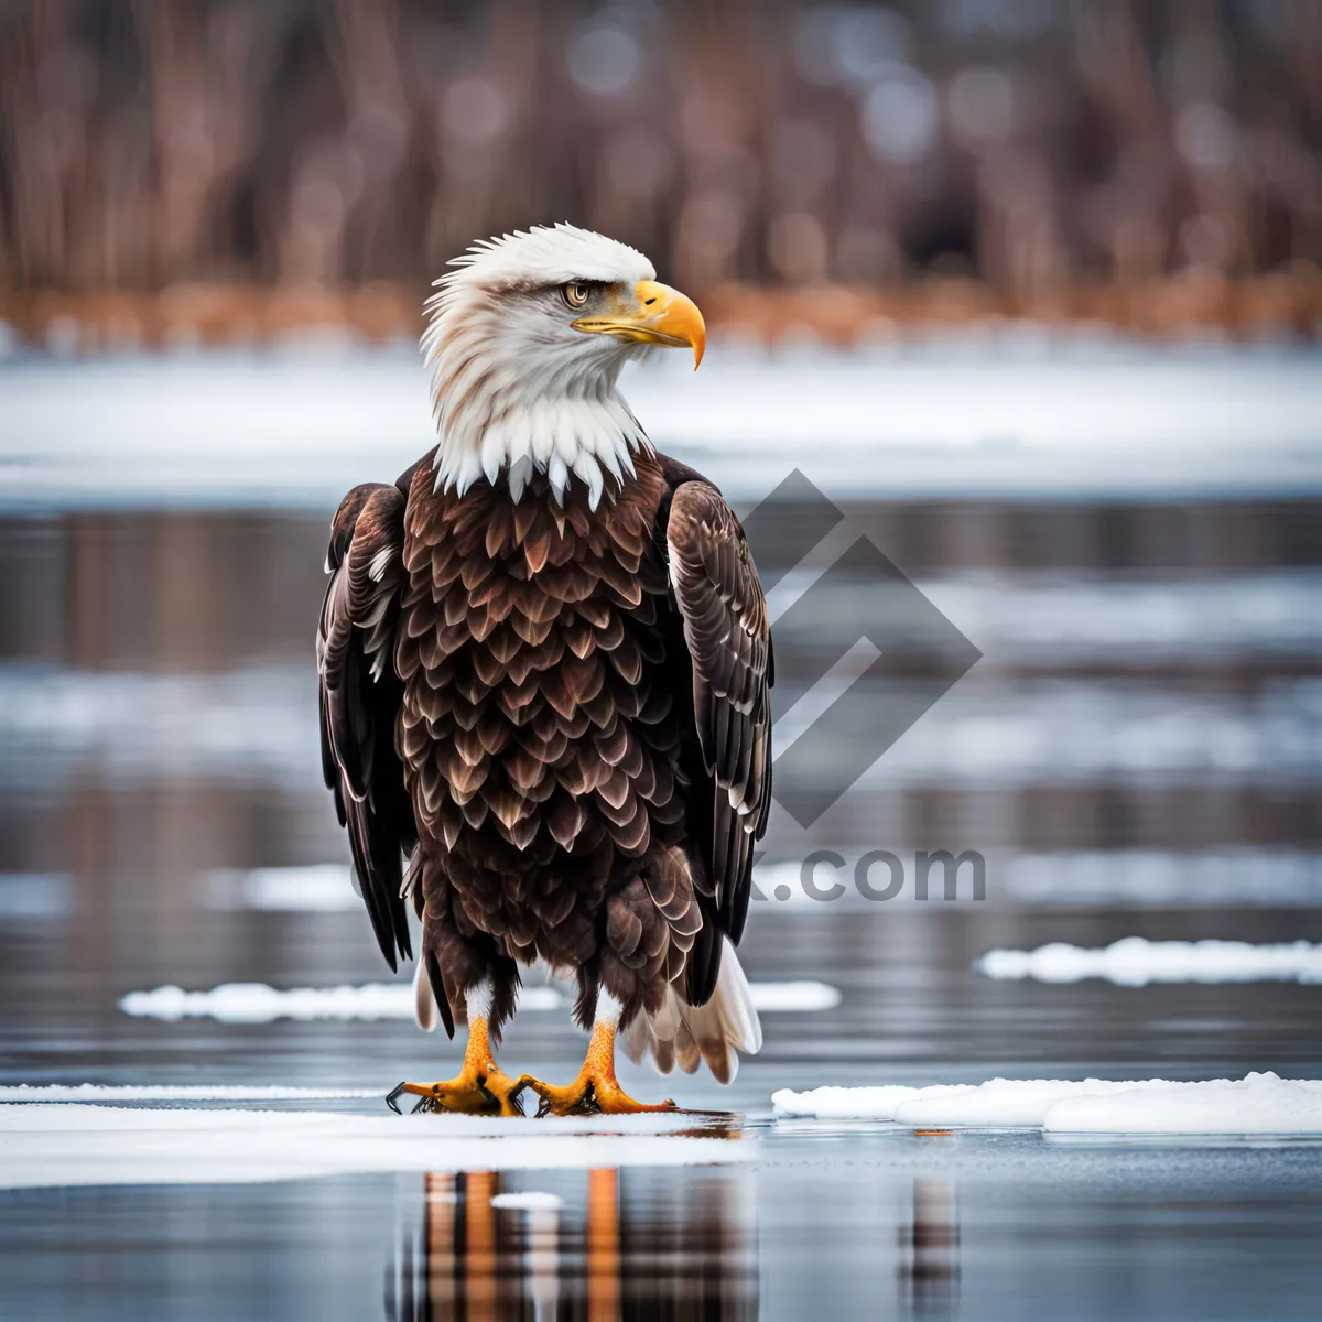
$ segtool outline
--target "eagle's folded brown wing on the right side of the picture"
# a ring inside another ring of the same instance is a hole
[[[739,520],[710,484],[685,481],[676,489],[666,545],[693,661],[698,742],[711,777],[707,863],[715,919],[738,941],[748,912],[752,847],[765,833],[771,808],[767,600]]]

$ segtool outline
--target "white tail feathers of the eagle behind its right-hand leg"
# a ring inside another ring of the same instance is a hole
[[[624,1050],[635,1064],[650,1055],[661,1073],[669,1073],[676,1064],[693,1073],[706,1060],[720,1083],[730,1083],[738,1073],[736,1052],[752,1056],[761,1050],[761,1025],[748,980],[728,940],[720,952],[720,976],[711,999],[691,1006],[672,984],[665,1005],[654,1015],[640,1014],[629,1025]]]

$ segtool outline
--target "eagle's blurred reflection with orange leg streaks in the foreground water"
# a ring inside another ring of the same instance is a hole
[[[731,1167],[609,1167],[427,1175],[422,1191],[410,1181],[386,1317],[755,1318],[754,1178]],[[516,1179],[538,1194],[502,1199]]]

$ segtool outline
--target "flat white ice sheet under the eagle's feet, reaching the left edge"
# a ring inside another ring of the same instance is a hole
[[[722,1137],[727,1134],[727,1137]],[[754,1144],[701,1117],[488,1120],[323,1112],[0,1105],[0,1187],[250,1183],[353,1171],[738,1162]]]

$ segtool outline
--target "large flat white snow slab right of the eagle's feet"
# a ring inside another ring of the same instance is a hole
[[[928,1088],[783,1088],[777,1116],[1052,1134],[1322,1134],[1322,1079],[992,1079]]]

